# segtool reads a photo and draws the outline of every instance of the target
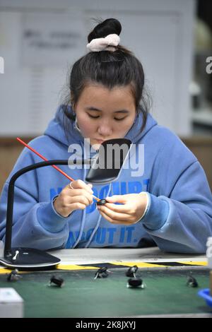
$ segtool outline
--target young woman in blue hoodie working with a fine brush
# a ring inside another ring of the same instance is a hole
[[[143,167],[122,169],[111,184],[86,184],[86,167],[28,172],[16,181],[13,247],[150,247],[204,253],[212,235],[212,198],[204,170],[175,134],[148,114],[141,62],[119,45],[122,27],[107,19],[88,35],[88,54],[71,71],[70,102],[61,105],[43,136],[30,146],[48,160],[69,159],[85,139],[93,151],[110,138],[129,138]],[[142,155],[142,149],[144,153]],[[85,151],[85,152],[84,152]],[[85,154],[79,158],[86,158]],[[25,148],[11,175],[40,162]],[[1,194],[4,239],[8,177]],[[93,195],[109,203],[96,208]],[[118,203],[118,204],[117,204]]]

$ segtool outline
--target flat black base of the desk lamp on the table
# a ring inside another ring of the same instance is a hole
[[[57,257],[33,248],[12,248],[11,256],[0,257],[2,265],[21,270],[47,270],[57,266],[59,262]]]

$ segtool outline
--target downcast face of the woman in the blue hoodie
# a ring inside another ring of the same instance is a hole
[[[124,138],[136,117],[129,85],[109,90],[90,84],[83,89],[74,110],[81,134],[90,138],[95,149],[105,140]]]

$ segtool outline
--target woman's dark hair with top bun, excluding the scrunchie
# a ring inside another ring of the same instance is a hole
[[[95,38],[106,37],[110,34],[119,35],[122,25],[115,18],[107,18],[95,26],[88,35],[88,42]],[[143,97],[144,73],[141,62],[125,47],[118,45],[114,52],[89,52],[73,64],[69,81],[69,102],[66,102],[64,114],[74,120],[69,112],[69,105],[74,108],[83,89],[89,83],[99,83],[105,88],[117,86],[131,86],[134,95],[136,112],[142,112],[143,124],[146,126],[148,107]]]

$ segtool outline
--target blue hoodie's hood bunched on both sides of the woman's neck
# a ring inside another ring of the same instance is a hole
[[[73,115],[71,107],[69,107],[69,112]],[[65,122],[67,132],[64,130]],[[141,138],[143,138],[143,136],[145,136],[148,131],[153,128],[153,126],[157,125],[157,122],[153,119],[153,117],[151,117],[151,114],[148,114],[146,126],[143,131],[141,131],[142,124],[143,114],[139,112],[139,114],[136,115],[134,124],[131,126],[131,129],[129,129],[125,138],[131,140],[132,143],[137,143],[138,141],[141,141]],[[54,138],[65,146],[69,146],[73,142],[82,144],[84,140],[81,133],[76,129],[75,121],[66,118],[66,115],[64,114],[64,105],[58,107],[54,119],[49,122],[44,134]]]

